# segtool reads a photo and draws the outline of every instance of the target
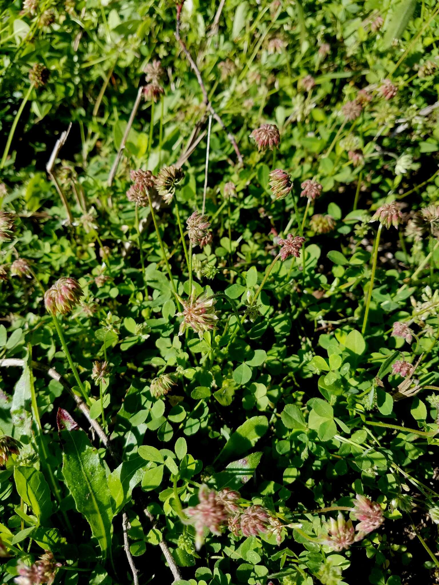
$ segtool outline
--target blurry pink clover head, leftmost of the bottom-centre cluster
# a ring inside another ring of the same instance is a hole
[[[212,534],[219,536],[221,528],[229,518],[229,514],[224,507],[222,498],[218,497],[214,490],[210,490],[203,485],[198,490],[198,500],[200,502],[184,510],[188,515],[188,524],[193,524],[196,531],[196,549],[200,550],[204,542],[204,531],[207,529]]]

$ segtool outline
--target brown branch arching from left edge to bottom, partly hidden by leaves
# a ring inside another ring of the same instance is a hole
[[[25,367],[25,365],[26,365],[25,360],[18,359],[16,357],[9,357],[8,359],[0,360],[0,367],[13,367],[13,366],[15,366],[15,367],[22,367],[23,368],[23,367]],[[109,438],[107,437],[107,435],[105,435],[104,429],[102,429],[101,425],[98,423],[97,420],[92,419],[90,417],[90,411],[87,407],[87,404],[85,404],[85,402],[73,392],[73,390],[70,388],[66,378],[61,376],[61,374],[59,374],[52,367],[44,366],[43,364],[40,364],[38,362],[32,362],[32,368],[34,370],[43,371],[45,374],[47,374],[47,376],[50,376],[51,378],[53,378],[53,380],[56,380],[60,384],[62,384],[63,388],[65,388],[67,390],[68,394],[70,394],[70,396],[76,402],[77,407],[84,414],[84,417],[87,418],[88,422],[90,422],[90,426],[94,429],[95,433],[101,439],[102,444],[105,446],[105,448],[108,449],[108,453],[111,456],[111,459],[113,460],[113,462],[116,465],[118,465],[120,463],[119,457],[116,456],[114,449],[112,448],[112,445],[109,441]],[[148,518],[150,524],[152,525],[152,528],[156,528],[155,518],[153,517],[152,514],[150,514],[150,512],[146,508],[145,495],[143,493],[139,493],[139,500],[142,504],[143,514],[145,514],[146,518]],[[125,533],[124,533],[124,540],[125,540]],[[181,579],[179,567],[177,567],[166,542],[164,542],[163,540],[160,541],[159,546],[163,552],[164,558],[166,559],[166,561],[169,565],[169,569],[171,570],[171,572],[174,576],[174,580],[178,581],[179,579]],[[129,559],[128,559],[128,562],[129,562]],[[130,563],[130,566],[131,566],[131,563]],[[133,573],[133,576],[134,576],[134,573]],[[135,581],[135,583],[136,583],[136,581]]]

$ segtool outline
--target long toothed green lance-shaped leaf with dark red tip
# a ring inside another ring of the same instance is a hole
[[[64,480],[76,509],[87,518],[106,558],[111,545],[113,512],[104,467],[84,431],[61,431],[60,438],[64,449]]]

